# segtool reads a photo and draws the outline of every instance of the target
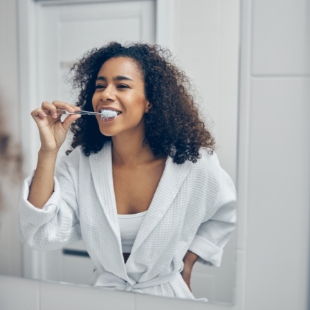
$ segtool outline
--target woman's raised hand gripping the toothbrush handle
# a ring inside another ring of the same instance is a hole
[[[66,139],[70,125],[74,120],[80,118],[80,115],[73,114],[67,116],[62,122],[61,116],[57,115],[57,109],[66,109],[69,112],[80,110],[79,107],[66,102],[53,101],[53,103],[49,103],[44,101],[41,108],[31,112],[31,116],[33,116],[39,129],[41,150],[44,152],[58,152]],[[51,111],[51,114],[46,115],[43,110]]]

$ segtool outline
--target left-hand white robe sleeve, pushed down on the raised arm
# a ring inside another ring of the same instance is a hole
[[[27,200],[33,174],[24,182],[17,233],[24,244],[35,250],[55,250],[81,239],[73,178],[65,163],[60,171],[54,177],[54,192],[42,209]]]

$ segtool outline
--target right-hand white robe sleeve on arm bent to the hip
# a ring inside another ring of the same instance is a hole
[[[189,248],[199,256],[198,262],[212,266],[220,266],[223,248],[235,230],[236,222],[235,185],[221,167],[218,184],[213,215],[210,217],[206,212]]]

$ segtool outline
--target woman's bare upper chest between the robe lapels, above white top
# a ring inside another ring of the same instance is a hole
[[[138,167],[113,166],[113,188],[118,214],[148,210],[164,169],[165,161]]]

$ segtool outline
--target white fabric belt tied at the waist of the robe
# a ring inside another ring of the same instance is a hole
[[[95,286],[102,286],[106,289],[117,289],[120,291],[129,291],[136,293],[143,293],[142,289],[145,289],[150,286],[157,286],[161,284],[165,284],[174,280],[174,277],[179,273],[177,269],[167,273],[165,275],[158,275],[151,280],[147,280],[145,282],[136,282],[135,280],[129,277],[129,281],[125,281],[114,275],[113,273],[102,273],[95,281]]]

